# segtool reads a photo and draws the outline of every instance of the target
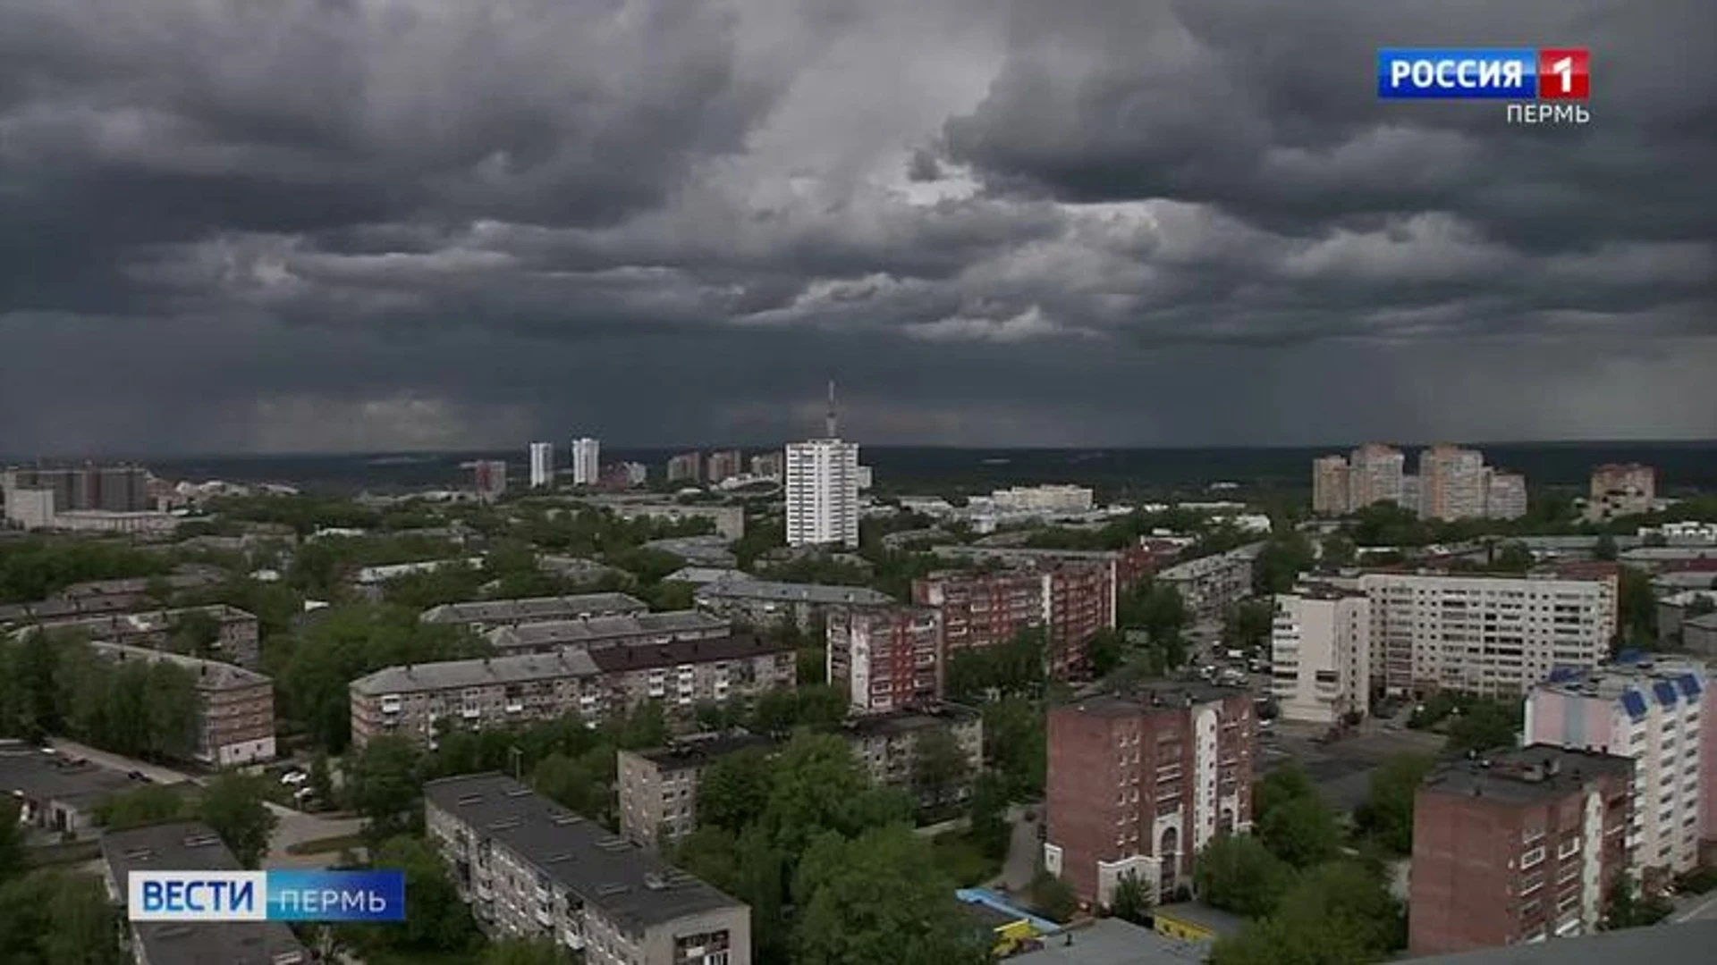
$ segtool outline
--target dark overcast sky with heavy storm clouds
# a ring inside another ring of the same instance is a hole
[[[1717,436],[1712,0],[0,0],[0,452]],[[1583,129],[1379,103],[1583,45]]]

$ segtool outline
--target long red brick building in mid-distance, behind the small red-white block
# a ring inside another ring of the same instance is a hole
[[[1106,561],[1044,561],[1003,572],[946,572],[912,584],[912,601],[943,615],[950,654],[1013,639],[1027,627],[1049,634],[1051,675],[1085,666],[1085,646],[1114,627],[1114,579]]]

